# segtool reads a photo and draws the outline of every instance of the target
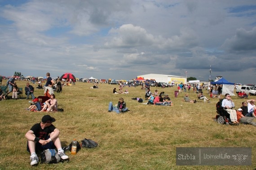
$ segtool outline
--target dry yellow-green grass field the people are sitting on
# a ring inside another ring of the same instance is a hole
[[[5,84],[6,81],[3,81]],[[17,81],[25,87],[26,81]],[[32,84],[33,85],[33,84]],[[36,85],[33,85],[36,87]],[[95,149],[81,149],[76,155],[66,154],[69,162],[30,166],[26,151],[25,133],[39,123],[46,113],[24,110],[28,100],[0,101],[0,170],[220,170],[256,169],[256,127],[230,126],[214,122],[216,102],[182,102],[184,92],[174,98],[177,87],[158,88],[169,94],[173,106],[149,106],[131,98],[144,99],[141,87],[125,87],[129,94],[113,94],[118,85],[100,84],[99,89],[89,89],[90,83],[77,82],[55,93],[58,107],[64,112],[50,112],[56,119],[53,124],[61,131],[62,146],[84,138],[98,142]],[[152,87],[151,91],[156,88]],[[204,94],[209,98],[206,91]],[[35,96],[43,95],[35,89]],[[197,99],[190,91],[190,99]],[[25,93],[23,92],[23,96]],[[124,98],[130,112],[108,112],[110,101],[117,104]],[[249,96],[256,99],[255,96]],[[236,108],[245,99],[233,96]],[[252,166],[176,166],[176,147],[252,147]]]

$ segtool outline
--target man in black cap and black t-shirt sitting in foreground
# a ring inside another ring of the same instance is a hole
[[[27,151],[31,153],[31,166],[38,164],[39,158],[36,152],[45,149],[57,148],[59,156],[62,160],[67,160],[65,152],[62,149],[61,141],[59,139],[60,131],[53,126],[55,119],[50,115],[44,115],[40,123],[36,123],[31,129],[26,132]]]

